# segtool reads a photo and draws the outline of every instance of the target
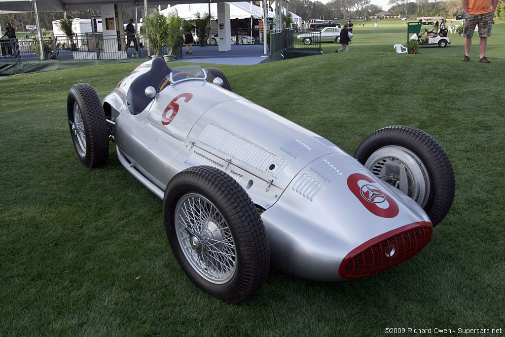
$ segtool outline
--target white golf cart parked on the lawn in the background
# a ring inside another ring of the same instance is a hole
[[[450,40],[447,37],[447,28],[445,26],[445,19],[443,16],[424,16],[417,18],[418,21],[408,22],[407,23],[407,42],[409,42],[409,34],[413,33],[410,37],[411,40],[417,40],[420,46],[424,45],[437,45],[439,47],[445,47],[447,44],[450,44]],[[435,21],[439,22],[439,26],[435,35],[431,36],[427,42],[424,42],[422,39],[423,34],[428,32],[428,29],[424,29],[424,32],[421,33],[421,27],[424,26],[432,26],[435,24]]]

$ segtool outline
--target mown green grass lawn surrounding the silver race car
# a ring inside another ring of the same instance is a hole
[[[85,168],[66,100],[88,82],[104,98],[136,64],[0,79],[0,335],[383,335],[384,328],[502,328],[505,312],[505,24],[491,64],[463,38],[396,54],[405,22],[355,23],[348,53],[221,66],[235,92],[354,153],[387,125],[433,135],[457,191],[431,242],[385,272],[322,283],[271,270],[252,300],[198,290],[172,256],[162,202],[119,164]],[[180,63],[171,63],[175,66]],[[208,65],[203,65],[208,66]],[[140,276],[139,279],[136,279]],[[453,334],[457,334],[457,333]],[[492,335],[492,334],[485,334]]]

